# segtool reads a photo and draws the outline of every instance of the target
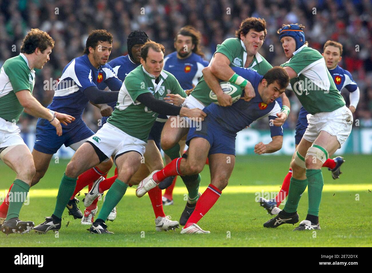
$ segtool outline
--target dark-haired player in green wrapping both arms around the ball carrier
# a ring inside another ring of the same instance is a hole
[[[256,71],[260,75],[264,75],[272,68],[264,57],[258,53],[259,49],[262,47],[266,33],[266,21],[264,19],[247,18],[243,20],[240,28],[235,32],[237,38],[226,39],[221,45],[218,45],[217,51],[211,60],[212,74],[218,79],[236,83],[244,88],[244,96],[242,99],[246,99],[247,101],[255,96],[254,89],[250,82],[245,80],[244,77],[239,76],[238,73],[235,73],[232,68],[245,67]],[[220,72],[220,70],[222,72]],[[185,99],[185,105],[189,108],[197,107],[203,109],[212,103],[211,98],[209,98],[210,91],[211,89],[202,77],[192,93]],[[221,88],[214,90],[214,92],[217,95],[219,105],[230,106],[232,104],[231,96],[222,92]],[[288,116],[289,100],[285,94],[282,94],[282,99],[284,104],[282,111]],[[278,119],[284,121],[282,117],[278,117]],[[187,135],[189,130],[187,127],[180,128],[172,126],[173,120],[174,118],[170,118],[166,122],[161,133],[161,147],[164,151],[170,150],[174,145],[177,145],[182,137]],[[180,122],[179,124],[182,123]],[[169,154],[169,156],[172,160],[179,157],[176,153],[173,153],[173,155]],[[181,178],[188,190],[186,206],[180,218],[180,225],[185,225],[187,217],[195,209],[196,201],[199,198],[198,189],[201,177],[200,174],[197,174],[185,177],[181,176]],[[163,182],[159,184],[159,187],[161,187]]]

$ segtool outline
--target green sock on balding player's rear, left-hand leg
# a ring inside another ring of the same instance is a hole
[[[58,218],[62,218],[62,213],[67,206],[76,187],[77,178],[70,178],[65,173],[63,174],[60,188],[58,189],[57,202],[53,214]]]

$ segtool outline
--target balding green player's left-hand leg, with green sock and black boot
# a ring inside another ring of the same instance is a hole
[[[47,217],[44,223],[36,226],[34,229],[37,232],[45,233],[49,230],[59,230],[61,228],[62,213],[67,206],[71,195],[73,194],[76,181],[80,174],[87,169],[97,166],[101,161],[108,159],[103,152],[94,149],[91,143],[84,143],[77,149],[76,153],[67,164],[67,168],[62,177],[60,187],[58,189],[57,202],[55,210],[51,217]]]

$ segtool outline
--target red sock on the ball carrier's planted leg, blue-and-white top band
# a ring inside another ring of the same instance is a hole
[[[196,202],[195,210],[187,220],[185,228],[188,228],[193,223],[198,223],[200,219],[208,212],[211,207],[216,203],[217,199],[221,196],[221,191],[214,185],[209,184],[208,188]]]

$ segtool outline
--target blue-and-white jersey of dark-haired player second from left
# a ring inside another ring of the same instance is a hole
[[[83,91],[90,86],[106,83],[112,91],[119,91],[122,81],[118,79],[113,69],[105,64],[98,69],[90,63],[88,55],[74,58],[65,66],[60,81],[54,91],[54,97],[48,109],[72,115],[76,120],[64,128],[71,128],[81,120],[83,111],[89,99]]]

